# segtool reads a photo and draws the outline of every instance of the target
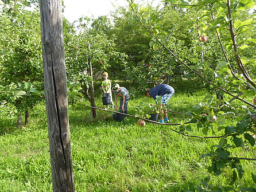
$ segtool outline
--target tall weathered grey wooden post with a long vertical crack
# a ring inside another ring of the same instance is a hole
[[[73,192],[61,0],[40,0],[44,89],[53,191]]]

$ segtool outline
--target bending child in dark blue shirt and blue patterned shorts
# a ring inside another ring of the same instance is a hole
[[[144,95],[147,97],[152,97],[154,100],[156,100],[156,96],[162,96],[161,105],[160,108],[162,108],[164,105],[168,103],[170,100],[170,97],[172,97],[174,94],[174,89],[170,85],[166,84],[160,84],[156,87],[153,87],[151,89],[148,89]],[[166,110],[160,111],[162,114],[160,116],[160,123],[169,122],[168,115]]]

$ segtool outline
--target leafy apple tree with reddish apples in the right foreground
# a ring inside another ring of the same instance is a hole
[[[212,151],[203,157],[211,159],[208,171],[214,175],[222,174],[229,167],[232,170],[232,186],[245,173],[241,160],[256,160],[239,157],[235,153],[237,147],[255,146],[256,105],[253,99],[256,95],[256,41],[252,36],[255,32],[255,17],[251,14],[255,2],[203,0],[192,5],[185,1],[165,1],[164,10],[177,9],[189,15],[189,32],[194,40],[189,50],[181,48],[179,52],[169,44],[172,37],[159,25],[161,22],[145,14],[145,8],[135,5],[133,1],[129,2],[134,18],[152,36],[149,45],[153,50],[165,50],[184,70],[204,81],[212,91],[224,95],[221,100],[215,99],[213,95],[205,96],[188,114],[191,115],[191,123],[195,123],[197,130],[206,135],[204,139],[219,138]],[[201,37],[207,37],[207,41],[201,41]],[[230,118],[233,121],[230,122]],[[189,132],[191,128],[191,125],[182,124],[180,132]],[[210,130],[218,136],[207,136]],[[251,175],[255,182],[253,171]],[[196,189],[235,190],[231,186],[214,187],[208,182],[204,186],[197,185]],[[195,188],[192,186],[191,190]],[[240,186],[239,190],[254,189]]]

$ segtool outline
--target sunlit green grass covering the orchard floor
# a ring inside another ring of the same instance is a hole
[[[186,112],[200,103],[206,91],[175,93],[170,99],[173,111]],[[129,112],[140,102],[153,99],[137,97],[129,101]],[[90,105],[88,101],[86,105]],[[104,108],[100,97],[96,105]],[[179,126],[146,122],[138,126],[137,118],[126,117],[115,122],[112,113],[96,111],[90,120],[90,108],[83,106],[69,111],[75,189],[84,191],[185,191],[189,183],[199,185],[210,176],[211,162],[201,155],[212,150],[219,139],[189,138],[179,135]],[[0,135],[0,191],[52,191],[48,127],[45,105],[38,104],[30,113],[27,127],[15,127],[14,119],[6,119]],[[170,123],[187,122],[188,116],[169,113]],[[12,120],[12,121],[11,121]],[[235,124],[236,122],[231,122]],[[205,136],[192,124],[189,135]],[[209,131],[209,135],[221,133]],[[255,147],[237,148],[234,156],[255,158]],[[233,185],[253,187],[251,173],[256,163],[242,160],[245,175]],[[255,172],[254,172],[255,174]],[[219,176],[211,175],[214,186],[228,186],[232,170],[224,169]]]

